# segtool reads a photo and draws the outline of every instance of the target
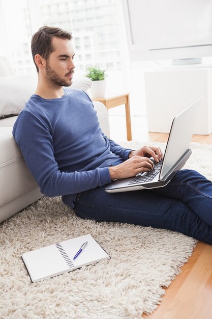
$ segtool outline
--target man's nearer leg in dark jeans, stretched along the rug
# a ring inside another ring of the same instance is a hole
[[[186,203],[152,191],[111,194],[106,193],[104,187],[98,187],[79,193],[74,210],[84,219],[170,229],[212,244],[212,227]]]

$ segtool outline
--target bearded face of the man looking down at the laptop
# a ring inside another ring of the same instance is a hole
[[[54,51],[46,61],[45,79],[53,87],[69,87],[72,84],[75,68],[73,63],[75,52],[72,42],[68,39],[53,37],[52,45]]]

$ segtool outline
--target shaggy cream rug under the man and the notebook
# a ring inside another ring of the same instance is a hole
[[[138,143],[125,146],[135,149]],[[186,167],[211,180],[212,146],[193,143],[192,149]],[[3,222],[0,231],[2,319],[140,319],[157,308],[163,287],[179,274],[196,245],[193,238],[168,230],[81,220],[58,197],[43,197]],[[87,233],[110,260],[31,282],[23,252]]]

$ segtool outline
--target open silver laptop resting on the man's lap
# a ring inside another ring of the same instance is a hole
[[[173,119],[163,161],[159,163],[153,161],[155,168],[150,172],[112,181],[105,191],[108,193],[138,191],[167,185],[176,172],[183,168],[192,153],[189,146],[201,100],[202,96]]]

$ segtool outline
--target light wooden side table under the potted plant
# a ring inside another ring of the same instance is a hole
[[[129,93],[122,95],[112,96],[112,97],[99,97],[95,98],[95,101],[100,101],[105,104],[107,110],[118,107],[118,105],[125,104],[125,116],[126,116],[126,126],[127,126],[127,140],[132,140],[131,132],[131,121],[130,121],[130,100]]]

